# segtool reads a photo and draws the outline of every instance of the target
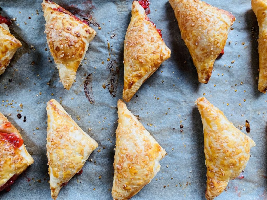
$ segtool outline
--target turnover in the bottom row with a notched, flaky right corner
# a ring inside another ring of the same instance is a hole
[[[122,100],[118,101],[118,115],[112,197],[126,200],[150,183],[166,152]]]

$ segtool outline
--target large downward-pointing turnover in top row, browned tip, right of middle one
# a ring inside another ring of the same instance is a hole
[[[198,80],[208,83],[213,63],[224,49],[235,17],[199,0],[169,0],[182,38],[197,68]]]

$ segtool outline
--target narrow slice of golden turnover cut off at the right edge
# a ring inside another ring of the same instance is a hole
[[[259,31],[259,86],[258,89],[266,94],[267,90],[267,0],[252,0],[252,9],[258,19]]]

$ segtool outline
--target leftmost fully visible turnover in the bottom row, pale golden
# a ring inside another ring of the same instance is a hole
[[[47,103],[46,111],[49,183],[51,197],[56,199],[61,187],[81,171],[89,155],[98,145],[55,99]]]

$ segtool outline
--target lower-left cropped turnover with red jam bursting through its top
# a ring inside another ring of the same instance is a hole
[[[0,113],[0,191],[9,191],[19,174],[32,163],[18,129]]]

